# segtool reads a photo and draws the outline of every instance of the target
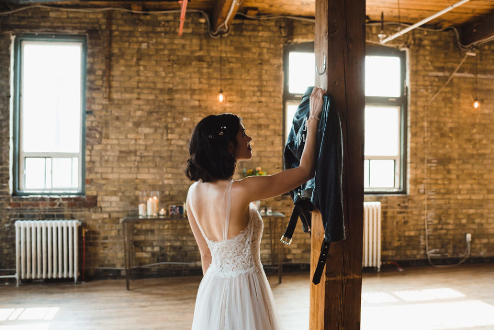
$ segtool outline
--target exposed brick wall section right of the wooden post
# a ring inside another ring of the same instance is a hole
[[[368,28],[367,40],[377,41],[378,33]],[[459,256],[466,248],[464,234],[472,233],[472,256],[492,256],[494,47],[490,43],[478,48],[477,70],[484,78],[478,79],[482,106],[475,112],[473,57],[459,70],[467,76],[454,77],[428,103],[465,55],[452,31],[414,30],[390,45],[409,51],[408,194],[365,198],[383,203],[383,258],[425,257],[424,216],[429,250]]]

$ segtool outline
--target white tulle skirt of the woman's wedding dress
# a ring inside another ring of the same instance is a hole
[[[263,269],[222,278],[206,271],[196,298],[192,330],[277,330],[281,321]]]

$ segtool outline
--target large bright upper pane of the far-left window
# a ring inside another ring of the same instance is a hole
[[[22,42],[24,152],[79,152],[81,43]]]

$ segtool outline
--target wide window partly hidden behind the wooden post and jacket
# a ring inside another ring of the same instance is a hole
[[[314,43],[285,48],[284,137],[307,86],[314,85]],[[366,193],[405,192],[405,52],[367,45],[365,56]]]

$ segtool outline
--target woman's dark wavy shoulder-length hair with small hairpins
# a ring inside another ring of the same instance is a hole
[[[235,173],[236,160],[228,152],[229,142],[237,146],[241,118],[233,114],[210,115],[192,131],[190,158],[184,171],[192,181],[214,182],[229,179]]]

